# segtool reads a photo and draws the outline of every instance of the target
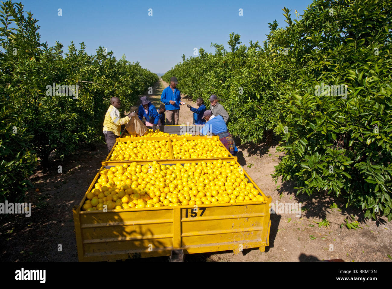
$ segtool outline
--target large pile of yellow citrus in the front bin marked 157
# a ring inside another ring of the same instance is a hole
[[[264,197],[235,161],[183,165],[136,162],[100,172],[82,210],[262,202]]]

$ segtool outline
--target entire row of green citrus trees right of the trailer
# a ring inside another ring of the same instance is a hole
[[[387,0],[314,0],[294,20],[284,8],[287,27],[269,23],[262,48],[231,33],[231,51],[199,49],[163,80],[175,75],[183,93],[205,101],[218,95],[243,142],[281,136],[276,181],[391,221],[391,13]]]

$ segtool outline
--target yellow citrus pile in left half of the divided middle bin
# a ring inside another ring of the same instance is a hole
[[[114,147],[110,156],[111,161],[131,161],[145,159],[169,159],[169,144],[167,141],[120,141]]]

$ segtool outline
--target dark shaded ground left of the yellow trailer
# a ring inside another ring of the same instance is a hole
[[[13,214],[2,219],[7,234],[0,233],[0,256],[9,261],[77,261],[72,209],[106,155],[105,144],[96,144],[95,151],[82,146],[64,160],[53,153],[48,166],[38,165],[29,181],[39,191],[29,189],[23,200],[31,203],[31,216]]]

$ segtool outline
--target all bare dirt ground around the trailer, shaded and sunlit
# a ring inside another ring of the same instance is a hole
[[[153,87],[154,95],[147,95],[159,107],[160,95],[168,84],[162,80]],[[196,107],[189,98],[184,102]],[[192,122],[192,112],[180,108],[179,124]],[[276,152],[278,141],[265,144],[238,144],[238,161],[272,203],[301,203],[300,216],[271,214],[270,246],[265,252],[244,249],[233,252],[193,254],[186,261],[318,261],[341,258],[344,261],[389,261],[392,255],[392,225],[387,219],[365,221],[363,212],[346,209],[342,199],[334,196],[296,196],[290,182],[275,184],[271,175],[282,154]],[[107,156],[104,143],[96,150],[82,148],[60,161],[53,155],[49,168],[38,167],[30,181],[39,192],[29,190],[25,202],[32,203],[30,217],[3,215],[0,232],[0,260],[2,261],[77,261],[76,238],[72,208],[78,205],[89,184]],[[59,166],[62,172],[59,173]],[[334,208],[336,207],[336,208]],[[279,211],[278,211],[279,212]],[[328,227],[318,222],[327,219]],[[341,224],[358,221],[359,228],[348,230]],[[140,261],[166,261],[166,257]]]

